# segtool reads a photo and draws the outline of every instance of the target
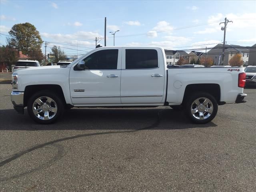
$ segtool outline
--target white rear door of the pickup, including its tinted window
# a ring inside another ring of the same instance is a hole
[[[161,49],[123,48],[122,104],[160,104],[164,98],[165,61]]]

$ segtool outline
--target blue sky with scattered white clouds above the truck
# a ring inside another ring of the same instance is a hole
[[[107,46],[113,46],[109,32],[120,30],[116,46],[213,47],[223,41],[219,23],[225,17],[233,21],[226,32],[228,44],[256,43],[256,1],[1,0],[0,4],[1,34],[8,34],[14,24],[30,22],[44,41],[53,42],[47,53],[53,45],[61,46],[68,56],[77,54],[72,49],[78,49],[78,55],[91,50],[95,37],[104,37],[105,17]],[[1,35],[0,43],[6,44],[6,36]]]

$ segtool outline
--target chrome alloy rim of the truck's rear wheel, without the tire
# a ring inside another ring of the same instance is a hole
[[[205,97],[200,97],[194,100],[190,108],[192,116],[199,120],[209,118],[213,112],[212,101]]]

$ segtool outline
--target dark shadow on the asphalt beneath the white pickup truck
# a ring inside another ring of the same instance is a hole
[[[12,109],[0,110],[0,130],[168,130],[217,126],[213,122],[193,124],[182,111],[171,108],[73,108],[50,125],[37,124],[26,109],[24,112],[20,115]]]

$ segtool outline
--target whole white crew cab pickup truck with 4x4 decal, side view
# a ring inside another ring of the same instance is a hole
[[[190,120],[210,122],[218,105],[246,102],[243,68],[167,68],[164,49],[102,47],[68,66],[12,74],[11,100],[38,123],[55,122],[65,108],[183,108]],[[171,117],[170,117],[171,118]]]

